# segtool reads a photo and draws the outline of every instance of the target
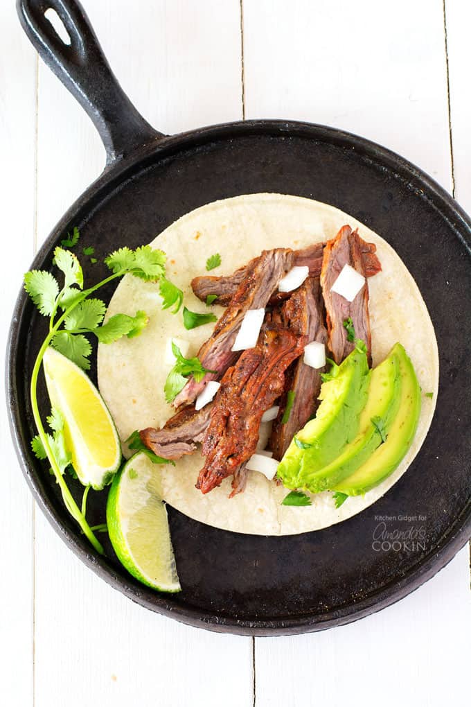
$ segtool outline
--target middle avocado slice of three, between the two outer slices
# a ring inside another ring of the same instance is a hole
[[[309,491],[336,489],[335,484],[362,466],[381,445],[398,413],[400,385],[399,356],[394,346],[387,358],[371,371],[368,399],[360,414],[359,432],[354,440],[333,462],[318,471],[313,472],[304,457],[300,476]]]

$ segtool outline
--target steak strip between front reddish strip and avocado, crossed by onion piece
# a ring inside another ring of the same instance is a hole
[[[317,277],[309,277],[304,284],[292,293],[281,309],[282,318],[298,336],[310,341],[326,344],[327,332],[323,322],[321,287]],[[304,427],[316,411],[317,397],[321,390],[323,369],[306,366],[302,357],[294,361],[287,371],[285,392],[280,399],[280,411],[273,422],[268,448],[273,457],[281,460],[294,435]],[[282,416],[287,405],[288,391],[294,392],[294,402],[287,423],[282,423]]]

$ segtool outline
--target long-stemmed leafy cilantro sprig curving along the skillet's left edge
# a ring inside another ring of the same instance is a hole
[[[62,240],[62,245],[73,247],[78,243],[79,235],[78,229],[74,228],[72,235],[68,234],[67,238]],[[85,255],[91,255],[92,252],[92,247],[84,249]],[[40,459],[49,460],[68,512],[100,554],[103,554],[104,550],[95,535],[95,530],[100,532],[100,528],[90,527],[85,518],[86,499],[90,487],[85,487],[81,508],[79,508],[64,479],[66,469],[74,474],[71,454],[64,437],[64,420],[59,411],[53,410],[51,416],[47,418],[51,432],[45,430],[37,402],[37,381],[48,346],[53,346],[78,366],[88,370],[92,352],[88,338],[90,334],[103,344],[124,336],[131,338],[141,334],[148,323],[145,312],[138,311],[134,316],[117,314],[103,323],[105,303],[92,295],[102,286],[126,274],[145,281],[165,279],[165,261],[165,253],[149,245],[138,247],[136,250],[128,247],[119,248],[105,259],[111,274],[97,284],[84,289],[83,270],[78,257],[70,250],[58,246],[54,250],[53,264],[62,274],[61,285],[47,270],[32,270],[25,274],[25,290],[40,313],[49,318],[49,331],[38,351],[30,381],[31,409],[37,428],[37,436],[31,443],[32,451]],[[166,282],[169,288],[172,284]]]

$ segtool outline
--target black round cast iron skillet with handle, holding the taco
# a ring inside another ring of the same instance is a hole
[[[44,18],[49,7],[64,22],[71,46]],[[33,45],[88,112],[107,151],[104,173],[57,224],[32,267],[52,267],[54,246],[73,226],[81,230],[81,245],[94,245],[102,259],[121,245],[148,243],[182,214],[215,199],[251,192],[311,197],[352,214],[393,245],[422,291],[441,356],[429,435],[384,498],[340,525],[292,537],[216,530],[169,508],[184,590],[164,595],[135,582],[111,547],[107,557],[95,554],[46,467],[32,456],[28,384],[45,320],[22,292],[8,343],[11,430],[49,522],[112,587],[148,609],[213,631],[316,631],[405,597],[471,534],[470,218],[407,160],[333,128],[261,120],[164,136],[124,95],[78,2],[18,0],[18,11]],[[85,279],[97,281],[104,271],[98,264],[85,266]],[[44,387],[42,399],[45,414]],[[102,522],[106,493],[90,496],[91,521]],[[401,532],[395,544],[386,537]]]

